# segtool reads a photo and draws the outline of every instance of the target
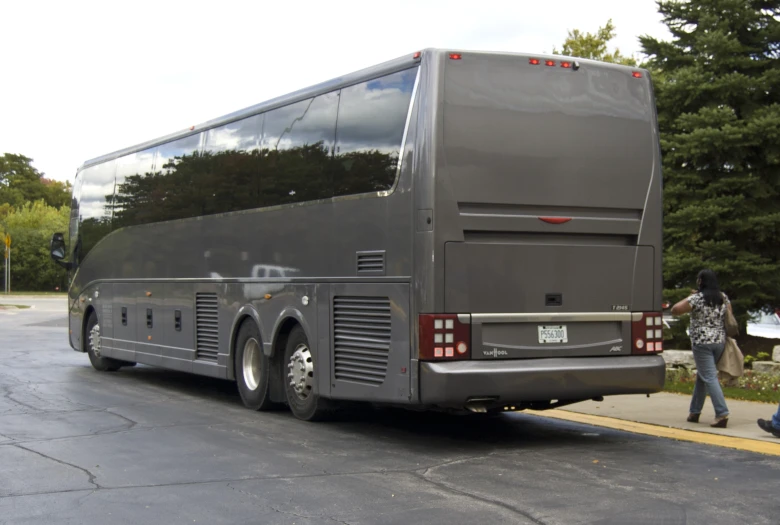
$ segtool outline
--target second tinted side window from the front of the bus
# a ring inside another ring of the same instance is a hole
[[[154,150],[117,159],[114,228],[151,222]]]

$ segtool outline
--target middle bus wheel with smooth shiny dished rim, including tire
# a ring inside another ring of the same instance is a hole
[[[241,325],[236,338],[234,370],[238,393],[244,406],[252,410],[273,407],[268,389],[270,361],[263,353],[260,331],[253,321]]]

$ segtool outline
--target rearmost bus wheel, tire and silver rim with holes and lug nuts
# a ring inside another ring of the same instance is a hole
[[[304,421],[322,420],[331,415],[332,403],[314,393],[316,362],[300,326],[293,328],[287,338],[284,362],[287,365],[282,372],[284,391],[293,415]]]

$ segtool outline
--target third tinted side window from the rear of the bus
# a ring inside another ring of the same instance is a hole
[[[211,195],[211,213],[262,206],[259,175],[263,115],[231,122],[206,132],[202,190]]]

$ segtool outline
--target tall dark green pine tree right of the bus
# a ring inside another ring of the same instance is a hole
[[[735,313],[780,306],[780,0],[659,1],[650,56],[664,174],[664,281],[699,269]]]

